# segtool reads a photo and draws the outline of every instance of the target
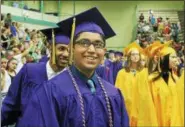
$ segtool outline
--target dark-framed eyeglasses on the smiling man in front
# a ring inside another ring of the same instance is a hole
[[[82,39],[82,40],[76,41],[75,44],[78,44],[85,48],[88,48],[90,45],[93,45],[95,49],[103,49],[105,47],[105,43],[102,41],[91,42],[88,39]]]

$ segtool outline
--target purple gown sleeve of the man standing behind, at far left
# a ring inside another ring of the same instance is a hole
[[[27,82],[26,77],[26,66],[24,66],[14,78],[12,84],[10,85],[9,91],[2,102],[1,126],[10,125],[17,121],[21,108],[20,98],[22,84]]]

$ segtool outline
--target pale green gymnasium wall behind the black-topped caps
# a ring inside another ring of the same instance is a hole
[[[39,1],[24,1],[29,7],[39,9]],[[134,41],[137,25],[137,9],[183,10],[183,1],[76,1],[76,13],[98,7],[115,30],[117,36],[107,40],[107,47],[122,51]],[[57,12],[57,1],[44,1],[44,12]],[[61,2],[60,20],[73,14],[73,1]]]

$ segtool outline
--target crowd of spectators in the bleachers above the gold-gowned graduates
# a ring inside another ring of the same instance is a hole
[[[172,40],[172,47],[177,51],[179,59],[184,62],[184,40],[179,38],[180,22],[171,22],[170,17],[156,17],[152,10],[149,10],[147,19],[145,16],[143,13],[139,16],[136,42],[146,48],[154,41],[164,43]]]

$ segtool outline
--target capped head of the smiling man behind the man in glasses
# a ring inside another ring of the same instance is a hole
[[[41,30],[47,36],[49,57],[45,58],[42,62],[47,62],[50,59],[50,65],[53,69],[62,70],[69,63],[69,42],[70,38],[67,33],[61,28]],[[51,35],[56,34],[55,41],[51,40]],[[61,68],[61,69],[60,69]]]

